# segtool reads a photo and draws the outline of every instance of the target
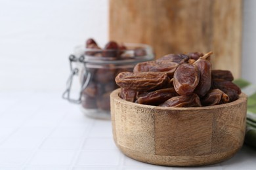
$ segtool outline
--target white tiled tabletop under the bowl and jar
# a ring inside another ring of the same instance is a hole
[[[0,92],[0,170],[256,169],[256,150],[207,167],[162,167],[123,155],[111,122],[85,117],[61,92]]]

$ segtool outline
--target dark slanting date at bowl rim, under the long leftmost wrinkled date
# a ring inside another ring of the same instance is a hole
[[[137,103],[143,105],[160,105],[167,99],[177,95],[174,88],[163,88],[154,92],[142,93],[138,96]]]

